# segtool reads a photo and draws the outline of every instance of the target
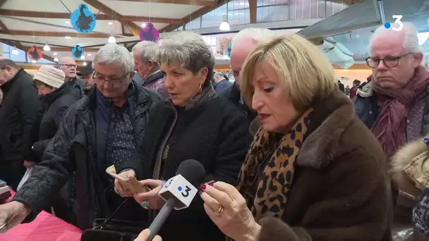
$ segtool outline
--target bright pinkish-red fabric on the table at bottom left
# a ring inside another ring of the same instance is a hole
[[[70,223],[42,211],[31,223],[0,233],[0,241],[80,241],[82,233]]]

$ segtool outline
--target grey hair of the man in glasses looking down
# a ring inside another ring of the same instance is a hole
[[[111,63],[120,63],[124,74],[131,73],[134,68],[133,55],[119,44],[106,44],[97,51],[92,61],[92,68],[95,68],[95,64],[107,65]]]

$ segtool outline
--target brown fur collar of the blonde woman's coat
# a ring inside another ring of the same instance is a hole
[[[341,154],[341,137],[357,116],[349,97],[339,91],[315,104],[313,109],[309,134],[303,142],[297,164],[322,168]]]

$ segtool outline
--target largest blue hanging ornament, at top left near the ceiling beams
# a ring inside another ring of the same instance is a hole
[[[81,33],[92,32],[95,28],[95,16],[86,4],[80,4],[79,8],[73,11],[70,16],[73,28]]]

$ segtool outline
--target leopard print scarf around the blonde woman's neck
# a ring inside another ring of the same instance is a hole
[[[304,112],[284,135],[267,132],[262,126],[256,132],[241,167],[237,187],[256,221],[262,216],[283,216],[294,178],[296,157],[306,136],[312,111]],[[265,167],[262,170],[260,166]],[[256,192],[255,184],[258,185]]]

